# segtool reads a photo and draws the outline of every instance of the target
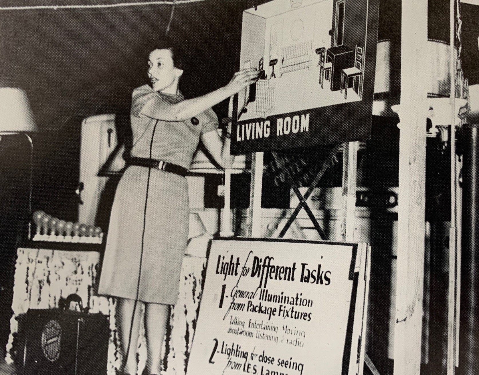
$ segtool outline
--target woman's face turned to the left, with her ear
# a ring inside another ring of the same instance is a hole
[[[178,79],[182,69],[174,66],[169,49],[155,49],[151,51],[148,59],[148,78],[155,91],[168,91],[178,87]],[[176,93],[176,92],[174,92]]]

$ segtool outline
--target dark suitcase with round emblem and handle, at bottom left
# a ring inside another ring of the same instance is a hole
[[[23,330],[23,375],[106,375],[108,316],[88,314],[80,296],[69,295],[66,308],[28,310]]]

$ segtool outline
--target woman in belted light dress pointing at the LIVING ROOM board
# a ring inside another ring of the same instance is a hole
[[[184,100],[183,67],[172,47],[153,50],[151,87],[133,91],[130,166],[118,184],[103,260],[99,293],[118,297],[124,353],[122,373],[137,372],[140,306],[145,305],[148,374],[160,374],[161,347],[170,306],[176,303],[188,238],[188,185],[184,177],[199,139],[222,168],[230,168],[230,125],[225,141],[211,107],[255,82],[254,68],[206,95]],[[166,162],[166,163],[165,163]]]

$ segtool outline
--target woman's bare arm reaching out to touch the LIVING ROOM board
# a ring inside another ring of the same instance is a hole
[[[144,105],[140,115],[163,121],[187,120],[236,94],[242,88],[256,82],[257,79],[258,71],[256,68],[243,69],[235,73],[226,86],[197,98],[187,99],[179,103],[169,103],[156,97],[152,98]]]

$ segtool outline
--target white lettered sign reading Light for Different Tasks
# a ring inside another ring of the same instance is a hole
[[[366,250],[324,241],[213,240],[187,374],[358,372]]]

